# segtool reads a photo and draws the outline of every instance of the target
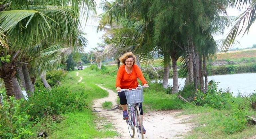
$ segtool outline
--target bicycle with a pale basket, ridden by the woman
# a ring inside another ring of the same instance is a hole
[[[127,104],[128,104],[128,116],[129,118],[126,120],[128,130],[130,133],[130,136],[134,138],[134,128],[135,126],[137,127],[137,133],[139,139],[143,139],[144,134],[143,134],[143,119],[140,113],[139,103],[142,103],[143,100],[143,88],[144,86],[138,86],[136,88],[131,88],[131,89],[122,89],[121,91],[118,92],[123,92],[125,93]]]

